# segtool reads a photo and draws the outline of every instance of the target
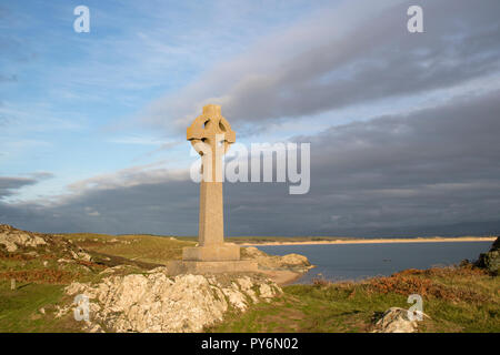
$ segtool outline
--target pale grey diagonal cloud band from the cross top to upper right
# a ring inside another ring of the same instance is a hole
[[[231,122],[266,124],[498,77],[498,1],[420,2],[424,33],[407,31],[408,1],[327,9],[154,102],[142,119],[184,128],[211,101]]]

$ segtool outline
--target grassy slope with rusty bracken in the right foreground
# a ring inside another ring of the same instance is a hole
[[[371,332],[389,307],[409,308],[408,295],[423,298],[431,318],[420,332],[500,332],[500,281],[481,271],[433,268],[366,282],[283,287],[268,304],[229,314],[208,332]]]

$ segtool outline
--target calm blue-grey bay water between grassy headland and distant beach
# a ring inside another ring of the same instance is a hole
[[[322,274],[331,281],[360,280],[390,275],[406,268],[458,264],[462,260],[477,260],[487,252],[491,242],[394,243],[394,244],[323,244],[323,245],[262,245],[268,254],[306,255],[317,267],[311,268],[297,283],[310,283]]]

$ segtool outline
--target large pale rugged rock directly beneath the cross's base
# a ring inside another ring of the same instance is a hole
[[[168,276],[164,267],[148,274],[109,276],[99,284],[72,283],[68,295],[90,301],[89,331],[201,332],[229,310],[242,312],[282,291],[258,275]],[[59,316],[74,308],[73,304]]]

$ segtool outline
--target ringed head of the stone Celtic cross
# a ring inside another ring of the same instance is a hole
[[[230,144],[234,143],[236,134],[222,116],[220,105],[208,104],[188,128],[187,139],[200,155],[203,155],[200,142],[208,144],[212,152],[216,146],[222,148],[222,154],[226,154]]]

